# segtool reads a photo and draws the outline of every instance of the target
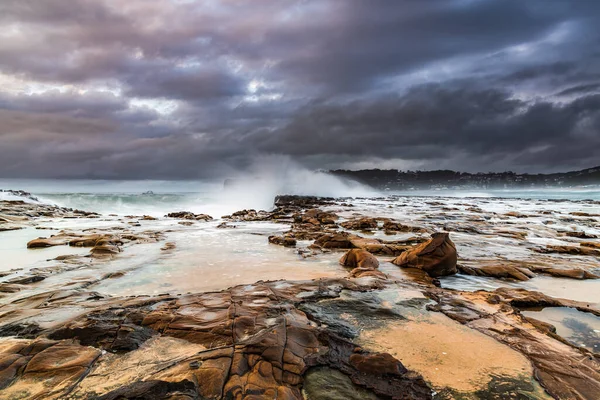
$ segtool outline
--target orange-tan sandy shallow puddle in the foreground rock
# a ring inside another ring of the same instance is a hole
[[[490,384],[502,382],[515,395],[548,398],[523,355],[443,314],[423,312],[406,321],[363,330],[359,343],[368,350],[392,354],[436,390],[453,396],[470,398],[470,393],[487,393]]]

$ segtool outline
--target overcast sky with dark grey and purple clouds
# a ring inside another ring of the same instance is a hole
[[[600,165],[600,1],[1,0],[0,177]]]

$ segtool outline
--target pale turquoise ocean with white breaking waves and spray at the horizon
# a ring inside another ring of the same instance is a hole
[[[24,190],[43,203],[101,214],[162,216],[172,211],[229,214],[242,209],[269,210],[278,194],[376,198],[506,198],[600,201],[600,186],[532,189],[439,189],[378,191],[321,173],[293,177],[219,181],[0,179],[0,189]],[[6,197],[6,194],[0,193]],[[2,198],[2,197],[0,197]]]

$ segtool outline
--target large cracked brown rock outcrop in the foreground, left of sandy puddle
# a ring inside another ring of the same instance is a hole
[[[345,279],[269,282],[102,300],[97,311],[45,332],[50,340],[0,345],[0,383],[8,398],[301,400],[306,372],[323,366],[377,396],[431,399],[399,360],[362,349],[298,308],[374,287]]]

